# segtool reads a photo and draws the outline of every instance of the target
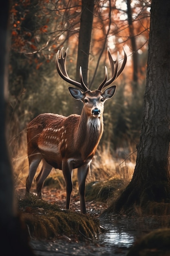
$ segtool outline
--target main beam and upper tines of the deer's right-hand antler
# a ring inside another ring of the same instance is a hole
[[[126,54],[126,51],[123,47],[123,50],[124,50],[124,61],[120,67],[120,69],[118,70],[118,65],[119,65],[119,52],[117,52],[117,58],[116,60],[113,60],[113,57],[110,53],[110,50],[108,48],[108,57],[109,57],[109,61],[110,61],[110,66],[111,66],[111,70],[112,70],[112,73],[111,73],[111,77],[108,81],[106,81],[106,83],[103,83],[103,86],[102,84],[99,85],[99,88],[98,90],[102,90],[103,88],[107,87],[108,85],[110,85],[111,83],[113,83],[113,81],[115,81],[117,79],[117,77],[121,74],[121,72],[124,70],[124,67],[126,65],[126,61],[127,61],[127,54]]]

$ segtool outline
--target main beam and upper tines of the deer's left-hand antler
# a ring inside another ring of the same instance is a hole
[[[84,87],[84,84],[82,85],[82,83],[74,81],[68,76],[67,71],[66,71],[66,57],[67,57],[68,48],[66,49],[64,56],[63,56],[63,49],[64,49],[64,47],[62,47],[61,51],[58,50],[58,52],[56,54],[56,58],[55,58],[55,65],[56,65],[58,74],[62,77],[62,79],[64,79],[64,81],[71,83],[72,85],[75,85],[76,87],[84,90],[84,92],[85,92],[86,90],[88,90],[86,85]],[[60,54],[60,58],[59,58],[59,54]]]

